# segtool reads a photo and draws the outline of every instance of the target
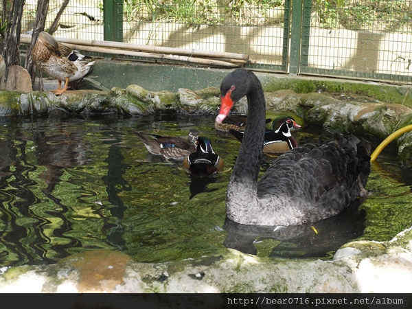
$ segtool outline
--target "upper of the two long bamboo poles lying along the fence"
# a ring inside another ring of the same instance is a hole
[[[22,42],[26,41],[26,38],[31,38],[30,34],[21,34]],[[87,45],[95,47],[108,47],[117,49],[129,49],[139,52],[152,52],[155,54],[176,54],[183,56],[195,56],[195,57],[208,57],[208,58],[229,58],[238,60],[249,60],[249,55],[227,53],[227,52],[213,52],[201,49],[182,49],[174,47],[159,47],[151,45],[139,45],[132,43],[122,43],[113,41],[95,41],[95,40],[80,40],[78,38],[56,38],[59,43],[73,44],[73,45]]]

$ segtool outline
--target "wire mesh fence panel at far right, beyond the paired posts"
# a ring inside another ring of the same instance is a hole
[[[301,73],[411,80],[412,1],[305,1]]]

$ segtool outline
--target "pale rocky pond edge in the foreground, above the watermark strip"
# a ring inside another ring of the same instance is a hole
[[[102,250],[0,272],[0,293],[412,293],[412,227],[389,242],[345,244],[333,260],[222,249],[152,264]]]

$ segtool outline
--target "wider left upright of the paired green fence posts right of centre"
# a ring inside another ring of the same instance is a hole
[[[290,75],[297,75],[297,73],[299,73],[303,2],[303,0],[292,1],[292,22],[290,23]]]

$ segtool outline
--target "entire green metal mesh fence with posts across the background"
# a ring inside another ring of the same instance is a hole
[[[50,1],[48,23],[59,3]],[[26,4],[23,32],[35,5]],[[412,0],[72,0],[54,36],[248,54],[247,67],[290,74],[411,82]]]

